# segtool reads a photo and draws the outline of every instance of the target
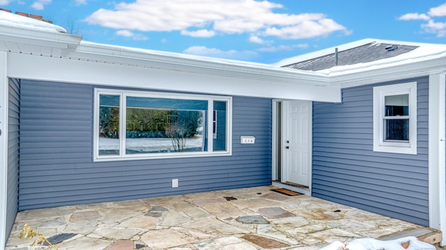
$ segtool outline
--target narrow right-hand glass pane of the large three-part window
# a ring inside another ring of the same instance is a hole
[[[214,101],[214,151],[226,151],[226,105],[227,101]]]

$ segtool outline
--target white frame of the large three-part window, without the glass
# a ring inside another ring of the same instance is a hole
[[[100,119],[100,95],[116,95],[120,97],[119,106],[119,154],[118,155],[99,155],[99,119]],[[164,98],[164,99],[184,99],[208,101],[206,113],[207,119],[207,151],[191,152],[169,152],[169,153],[125,153],[126,140],[126,119],[127,119],[127,97],[145,97],[145,98]],[[213,151],[213,106],[214,101],[226,101],[226,150]],[[180,94],[172,92],[151,92],[134,90],[116,90],[116,89],[94,89],[94,110],[93,110],[93,161],[111,161],[111,160],[147,160],[160,158],[186,158],[202,156],[231,156],[232,155],[232,97],[213,96],[205,94]]]

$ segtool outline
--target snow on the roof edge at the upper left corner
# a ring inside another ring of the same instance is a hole
[[[27,28],[34,31],[38,30],[52,33],[67,33],[66,29],[61,26],[49,24],[30,17],[15,15],[6,11],[0,11],[0,25]]]

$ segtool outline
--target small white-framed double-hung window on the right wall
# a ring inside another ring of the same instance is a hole
[[[374,151],[417,154],[417,83],[374,87]]]

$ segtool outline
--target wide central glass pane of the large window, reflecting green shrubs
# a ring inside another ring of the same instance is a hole
[[[127,97],[125,153],[207,151],[207,101]]]

